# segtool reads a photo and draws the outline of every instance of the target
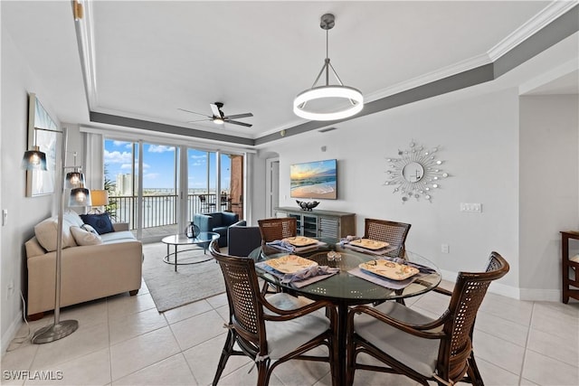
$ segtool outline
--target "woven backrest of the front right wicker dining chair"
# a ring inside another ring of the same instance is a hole
[[[472,329],[487,289],[493,280],[508,272],[507,260],[497,252],[490,253],[485,272],[459,272],[447,310],[449,317],[442,330],[450,339],[441,341],[438,372],[446,379],[460,379],[468,369],[472,351]]]

